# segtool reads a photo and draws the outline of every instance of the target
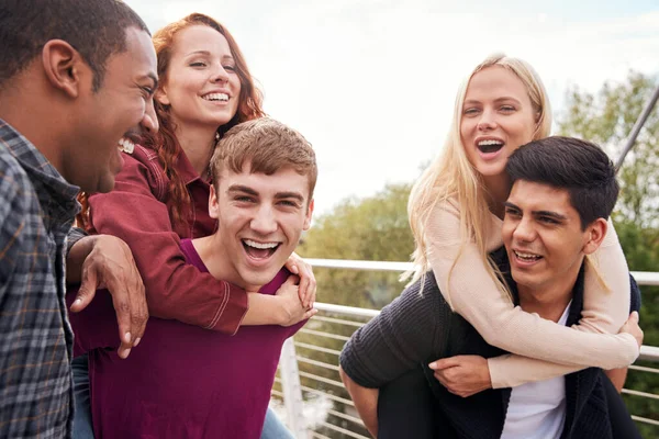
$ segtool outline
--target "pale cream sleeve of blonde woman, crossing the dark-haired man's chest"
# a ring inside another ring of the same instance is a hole
[[[454,311],[465,317],[488,344],[546,361],[544,367],[551,368],[554,376],[578,370],[579,367],[606,370],[623,368],[638,356],[638,345],[629,334],[572,330],[514,306],[507,295],[499,292],[488,274],[487,262],[476,244],[468,241],[461,245],[456,204],[438,204],[431,215],[426,239],[428,259],[439,290]],[[500,237],[488,243],[490,250],[500,245]],[[628,309],[628,305],[624,309]],[[551,361],[571,365],[572,369],[558,367]],[[492,385],[500,389],[537,381],[537,371],[532,368],[537,368],[537,364],[538,361],[515,356],[489,360]]]

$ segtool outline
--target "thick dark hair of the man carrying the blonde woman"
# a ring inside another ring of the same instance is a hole
[[[505,169],[513,183],[525,180],[566,189],[583,229],[596,218],[608,218],[619,192],[606,153],[573,137],[530,142],[511,155]]]

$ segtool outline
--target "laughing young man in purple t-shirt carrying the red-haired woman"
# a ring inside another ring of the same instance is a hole
[[[226,133],[211,167],[209,212],[217,230],[181,240],[188,263],[273,304],[299,301],[297,278],[282,267],[311,222],[311,145],[259,119]],[[233,337],[150,318],[139,349],[122,360],[107,349],[116,347],[111,297],[99,299],[71,318],[76,350],[89,352],[97,439],[259,438],[281,346],[315,313],[300,307],[293,326],[241,327]]]

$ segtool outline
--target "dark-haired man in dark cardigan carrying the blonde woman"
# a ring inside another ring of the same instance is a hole
[[[524,311],[571,326],[583,309],[583,274],[592,269],[587,256],[602,243],[618,193],[613,164],[593,144],[549,137],[517,149],[506,171],[513,187],[504,247],[492,260]],[[640,295],[630,282],[630,312],[636,312]],[[537,382],[491,390],[484,358],[505,352],[453,313],[432,272],[423,294],[420,288],[416,282],[405,290],[342,352],[342,378],[371,432],[384,438],[639,437],[601,369],[569,373],[573,368],[566,367],[565,376],[538,375]],[[636,323],[633,313],[623,330],[640,345]],[[472,378],[463,381],[474,383],[473,391],[449,391],[435,379],[438,369],[465,364]],[[618,374],[613,373],[615,381]]]

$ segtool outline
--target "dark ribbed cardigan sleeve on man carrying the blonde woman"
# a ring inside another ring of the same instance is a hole
[[[357,384],[376,389],[422,361],[428,361],[439,338],[440,294],[407,288],[346,342],[339,358]]]

